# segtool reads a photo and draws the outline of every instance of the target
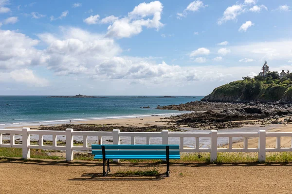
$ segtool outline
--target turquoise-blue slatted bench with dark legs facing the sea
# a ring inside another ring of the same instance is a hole
[[[110,159],[169,160],[181,159],[179,145],[91,145],[94,159],[103,159],[103,177],[110,172]],[[105,165],[107,162],[107,172]]]

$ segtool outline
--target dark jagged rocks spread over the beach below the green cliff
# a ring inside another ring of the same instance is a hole
[[[276,102],[262,104],[259,102],[222,103],[195,101],[160,108],[195,111],[194,113],[186,113],[167,118],[172,119],[178,125],[187,125],[192,128],[204,127],[205,129],[237,128],[243,125],[243,122],[238,121],[259,119],[269,121],[271,119],[292,115],[292,104]],[[279,121],[274,121],[274,124],[278,123]]]

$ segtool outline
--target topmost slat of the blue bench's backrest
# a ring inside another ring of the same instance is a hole
[[[105,146],[105,149],[180,149],[180,145],[91,145],[92,149],[101,149],[101,146]]]

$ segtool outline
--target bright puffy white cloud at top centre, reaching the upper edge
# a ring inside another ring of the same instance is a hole
[[[140,3],[132,12],[117,19],[108,27],[107,36],[116,38],[131,37],[142,32],[143,27],[154,28],[157,31],[164,26],[160,22],[163,5],[160,1]],[[152,19],[145,17],[153,16]]]

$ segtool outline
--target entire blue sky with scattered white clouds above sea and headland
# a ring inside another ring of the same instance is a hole
[[[0,95],[208,95],[292,70],[291,0],[0,0]]]

